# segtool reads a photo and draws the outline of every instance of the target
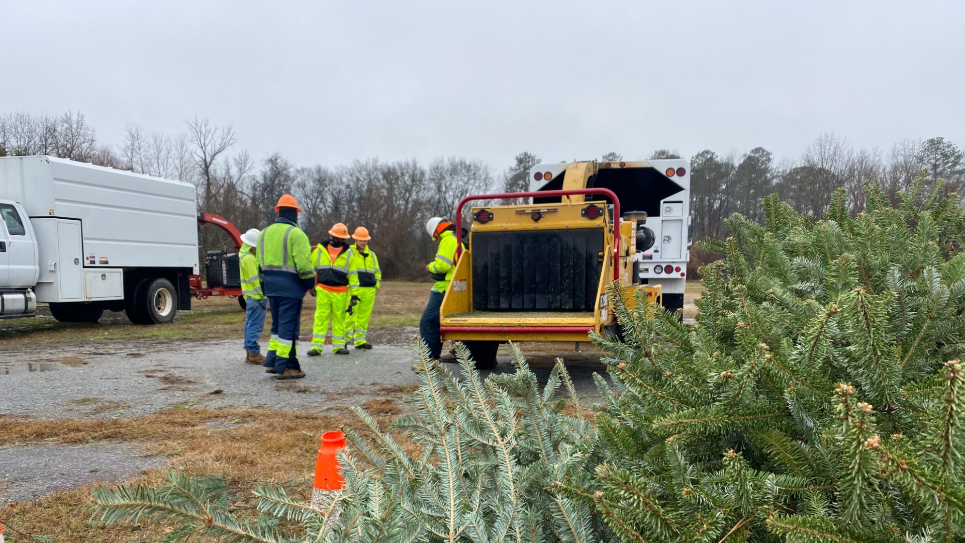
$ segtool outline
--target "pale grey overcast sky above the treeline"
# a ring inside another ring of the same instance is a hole
[[[0,29],[0,111],[115,143],[198,115],[298,165],[965,146],[961,0],[0,0]]]

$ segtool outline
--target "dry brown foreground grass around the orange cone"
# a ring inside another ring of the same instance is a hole
[[[394,405],[394,401],[390,400]],[[395,414],[381,404],[372,415],[383,427]],[[398,410],[398,407],[396,407]],[[322,433],[350,427],[368,434],[361,421],[345,410],[330,414],[307,414],[263,409],[176,409],[134,419],[111,420],[4,420],[0,424],[0,447],[24,443],[131,443],[150,455],[190,475],[224,478],[239,500],[234,510],[254,511],[250,491],[258,481],[295,481],[295,494],[309,499],[319,437]],[[397,436],[414,451],[414,443]],[[160,483],[166,469],[152,470],[135,481]],[[300,493],[300,494],[299,494]],[[121,543],[155,541],[169,527],[104,527],[91,518],[91,487],[57,492],[21,503],[0,518],[20,531],[56,536],[57,541]],[[206,541],[198,539],[198,541]]]

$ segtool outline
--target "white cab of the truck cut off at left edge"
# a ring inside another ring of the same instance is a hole
[[[37,236],[23,206],[0,200],[0,318],[26,317],[37,310],[37,251]]]

